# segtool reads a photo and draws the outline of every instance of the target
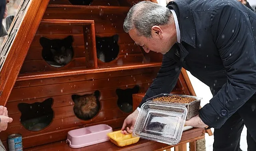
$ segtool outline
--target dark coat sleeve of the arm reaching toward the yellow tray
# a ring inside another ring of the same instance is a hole
[[[173,53],[172,51],[173,49],[163,55],[162,65],[157,77],[155,77],[147,90],[139,108],[146,102],[146,99],[161,93],[170,93],[175,87],[181,72],[181,65],[170,57],[170,54]]]

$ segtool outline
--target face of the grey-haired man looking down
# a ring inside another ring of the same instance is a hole
[[[152,35],[152,38],[146,38],[144,36],[139,36],[135,29],[129,31],[129,35],[133,41],[139,46],[142,46],[145,52],[160,52],[161,54],[166,54],[169,51],[167,45],[164,45],[163,39],[158,36]]]

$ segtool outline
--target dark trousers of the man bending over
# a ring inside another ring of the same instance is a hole
[[[248,151],[256,151],[256,95],[236,111],[220,129],[214,129],[213,151],[241,151],[240,135],[247,128]]]

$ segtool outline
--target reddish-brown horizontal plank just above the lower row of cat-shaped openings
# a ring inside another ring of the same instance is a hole
[[[153,75],[154,76],[154,75]],[[150,74],[131,75],[123,77],[109,77],[108,79],[95,79],[90,81],[77,81],[59,84],[40,85],[36,87],[22,87],[12,90],[10,100],[20,100],[22,98],[40,98],[52,97],[56,95],[72,94],[85,91],[94,91],[97,89],[109,89],[126,85],[140,85],[142,83],[150,83],[153,80]],[[125,79],[125,80],[124,80]],[[31,93],[33,92],[33,93]]]

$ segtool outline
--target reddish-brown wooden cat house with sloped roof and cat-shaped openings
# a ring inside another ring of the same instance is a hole
[[[170,149],[145,139],[127,147],[107,141],[81,149],[71,149],[65,142],[69,130],[85,126],[108,124],[119,130],[157,75],[162,57],[145,53],[123,31],[126,14],[137,1],[77,1],[21,2],[0,56],[0,105],[13,118],[0,134],[4,146],[8,148],[8,135],[20,133],[24,150],[30,151]],[[47,53],[53,55],[56,45],[71,52],[49,58]],[[113,56],[104,55],[105,49]],[[171,93],[195,95],[185,70]],[[95,95],[99,101],[95,116],[86,120],[75,114],[72,97],[83,95]],[[35,120],[37,116],[44,122]],[[183,132],[176,151],[185,151],[188,142],[195,151],[196,140],[203,139],[205,132],[204,128]]]

